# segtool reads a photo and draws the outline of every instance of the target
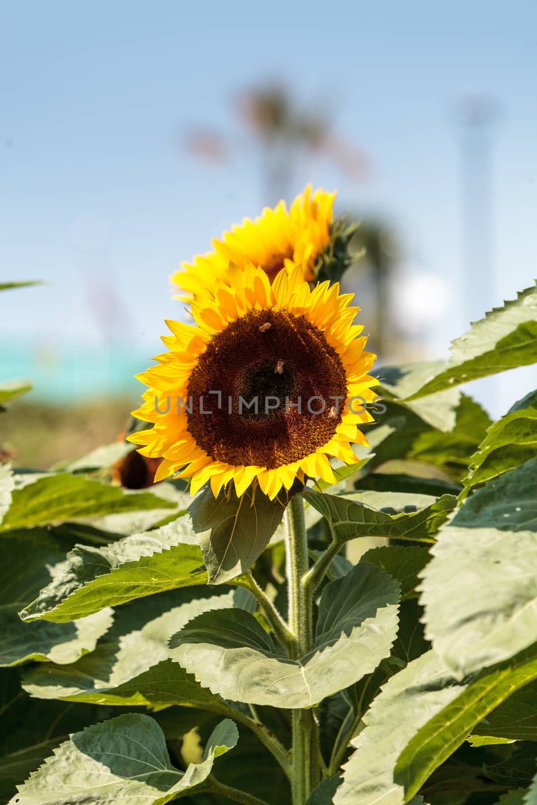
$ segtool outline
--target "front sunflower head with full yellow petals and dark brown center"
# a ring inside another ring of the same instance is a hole
[[[271,499],[297,477],[336,483],[328,457],[356,463],[350,445],[367,444],[357,426],[373,419],[353,398],[372,402],[378,385],[353,295],[328,282],[312,291],[301,266],[272,285],[250,262],[228,279],[192,302],[197,326],[167,321],[169,351],[138,375],[149,388],[133,411],[155,427],[129,440],[163,457],[155,481],[179,473],[192,494],[207,481],[215,497],[233,481],[238,495],[254,483]]]

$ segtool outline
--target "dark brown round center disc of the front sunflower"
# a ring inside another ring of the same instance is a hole
[[[221,392],[220,407],[211,391]],[[275,469],[332,438],[346,394],[341,359],[318,328],[304,316],[251,311],[200,355],[188,431],[214,460]]]

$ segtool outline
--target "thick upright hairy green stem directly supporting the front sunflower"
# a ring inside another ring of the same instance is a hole
[[[292,497],[285,512],[286,571],[289,627],[295,638],[292,658],[308,654],[313,646],[312,593],[304,584],[308,573],[308,539],[304,502]],[[317,737],[316,737],[317,736]],[[319,778],[318,731],[311,709],[292,711],[291,791],[293,805],[305,805]]]

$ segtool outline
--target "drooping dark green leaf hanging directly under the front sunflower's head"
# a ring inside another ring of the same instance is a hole
[[[210,486],[194,499],[188,511],[198,535],[209,584],[240,576],[262,554],[282,521],[285,506],[252,487],[238,497],[233,489],[215,499]]]

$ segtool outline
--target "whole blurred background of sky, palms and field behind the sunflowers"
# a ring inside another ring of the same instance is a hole
[[[345,278],[381,363],[531,285],[537,5],[0,2],[0,448],[117,436],[184,309],[168,275],[311,182],[367,248]],[[494,416],[535,368],[469,386]]]

